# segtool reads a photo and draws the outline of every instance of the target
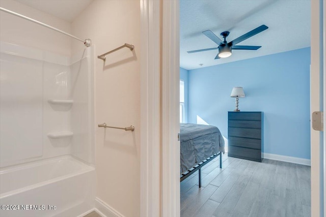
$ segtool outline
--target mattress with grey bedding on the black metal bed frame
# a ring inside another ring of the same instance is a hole
[[[219,128],[180,123],[180,174],[219,151],[225,153]]]

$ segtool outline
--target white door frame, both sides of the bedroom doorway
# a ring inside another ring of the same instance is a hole
[[[179,91],[175,86],[178,83],[176,75],[179,75],[177,65],[179,29],[176,29],[179,27],[179,2],[156,0],[140,0],[140,2],[141,216],[179,216],[179,173],[176,173],[178,166],[175,166],[179,165],[180,161],[179,143],[175,141],[179,120],[178,107],[175,105]],[[319,25],[319,4],[320,1],[311,1],[311,72],[313,75],[320,73],[318,47],[320,47],[319,31],[322,27]],[[325,40],[325,36],[323,38]],[[325,72],[323,74],[325,75]],[[319,156],[320,146],[313,145],[320,144],[320,140],[318,141],[311,141],[311,215],[319,216],[324,212],[326,217],[325,207],[321,210],[320,206],[321,198],[326,195],[326,192],[320,192],[320,184],[322,184],[320,173],[324,171],[325,174],[325,162],[321,162]],[[325,159],[325,156],[323,158]]]

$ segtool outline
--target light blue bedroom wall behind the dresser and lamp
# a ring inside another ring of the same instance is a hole
[[[217,60],[218,61],[218,60]],[[310,47],[188,71],[188,122],[197,115],[227,138],[234,86],[241,111],[264,112],[264,152],[310,159]]]

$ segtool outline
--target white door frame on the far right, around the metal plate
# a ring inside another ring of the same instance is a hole
[[[325,78],[322,66],[323,60],[323,47],[322,40],[322,1],[311,1],[311,70],[310,70],[310,109],[311,115],[314,111],[321,111],[323,104],[325,103],[325,94],[323,99],[321,98],[321,88],[325,88],[325,82],[322,77]],[[325,46],[325,45],[324,45]],[[323,87],[322,87],[323,86]],[[312,117],[310,118],[312,119]],[[311,121],[312,122],[312,121]],[[311,216],[322,216],[324,211],[323,201],[325,193],[323,180],[325,173],[324,166],[324,143],[322,144],[322,138],[325,140],[325,130],[323,132],[315,131],[311,129]],[[324,141],[325,142],[325,141]]]

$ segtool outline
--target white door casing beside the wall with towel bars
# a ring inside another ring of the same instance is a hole
[[[141,6],[141,216],[160,213],[160,2]]]

